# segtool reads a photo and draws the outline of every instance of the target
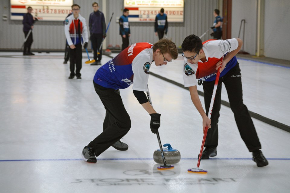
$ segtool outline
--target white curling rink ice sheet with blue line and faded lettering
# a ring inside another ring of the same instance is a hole
[[[207,174],[188,173],[198,162],[202,119],[188,90],[153,75],[148,85],[153,107],[161,114],[161,142],[179,150],[181,161],[173,164],[174,169],[157,170],[160,164],[153,160],[159,149],[157,137],[130,86],[120,90],[132,121],[121,139],[129,149],[110,147],[96,164],[84,162],[82,149],[101,133],[105,117],[92,84],[99,66],[85,64],[83,53],[82,79],[69,80],[63,53],[35,54],[0,52],[0,192],[290,191],[290,133],[253,119],[269,161],[259,168],[240,137],[233,113],[223,105],[217,156],[201,160],[200,168]],[[103,55],[102,64],[108,60]],[[182,60],[180,54],[166,66],[151,65],[150,72],[183,84]],[[248,109],[290,125],[290,68],[240,58],[238,62]],[[228,101],[224,87],[222,100]]]

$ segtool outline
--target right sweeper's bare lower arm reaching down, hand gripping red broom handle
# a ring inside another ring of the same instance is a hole
[[[205,130],[205,126],[208,125],[208,128],[211,128],[211,120],[208,118],[208,116],[205,114],[205,111],[201,105],[201,102],[199,100],[198,92],[197,92],[197,86],[191,86],[188,87],[190,97],[192,100],[192,103],[194,104],[195,108],[198,110],[199,114],[202,117],[202,128],[203,131]]]

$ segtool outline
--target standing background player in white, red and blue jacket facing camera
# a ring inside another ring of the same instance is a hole
[[[72,5],[72,15],[66,18],[64,22],[64,33],[66,34],[66,41],[69,45],[69,79],[75,77],[81,79],[82,69],[82,45],[86,49],[88,46],[88,30],[85,18],[79,14],[81,7],[77,4]],[[76,73],[75,73],[76,65]]]

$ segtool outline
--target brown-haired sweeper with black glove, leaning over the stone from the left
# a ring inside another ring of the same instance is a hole
[[[177,57],[176,45],[169,39],[161,39],[153,45],[147,42],[135,43],[97,70],[93,84],[105,106],[106,116],[102,124],[103,132],[82,151],[86,162],[96,163],[95,156],[98,157],[110,146],[121,151],[128,149],[128,145],[120,141],[131,128],[130,116],[124,107],[120,89],[133,85],[138,102],[151,116],[151,131],[157,132],[161,115],[153,109],[144,93],[147,91],[149,69],[153,61],[156,66],[162,66]]]

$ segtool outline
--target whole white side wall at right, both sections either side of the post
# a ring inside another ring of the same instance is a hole
[[[244,51],[256,54],[257,0],[233,0],[232,38],[238,37],[240,22],[246,20]],[[290,1],[265,0],[264,55],[290,60]],[[243,27],[240,33],[243,39]]]

